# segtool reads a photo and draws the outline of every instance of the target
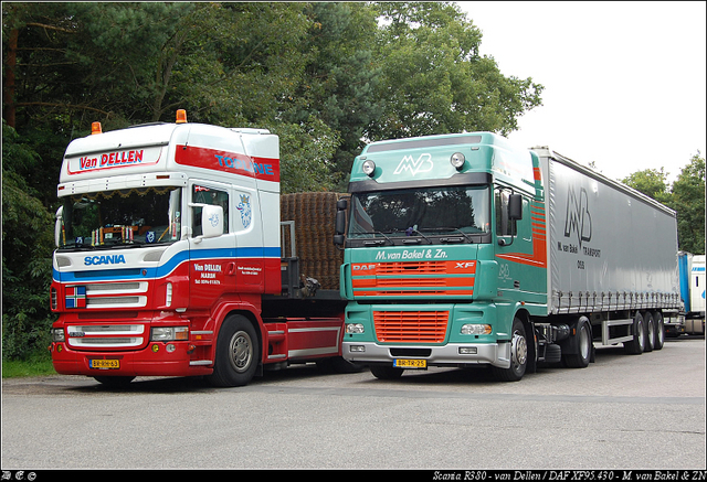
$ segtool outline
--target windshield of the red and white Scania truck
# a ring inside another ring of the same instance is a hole
[[[181,189],[102,191],[64,199],[60,248],[165,244],[181,233]]]

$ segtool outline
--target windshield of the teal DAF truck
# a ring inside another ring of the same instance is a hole
[[[355,193],[349,238],[489,233],[488,186]],[[478,242],[476,239],[475,242]]]

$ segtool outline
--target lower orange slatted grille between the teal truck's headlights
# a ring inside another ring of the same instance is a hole
[[[387,343],[442,343],[449,311],[374,311],[376,338]]]

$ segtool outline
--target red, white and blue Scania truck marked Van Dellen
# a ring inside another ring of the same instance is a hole
[[[282,256],[284,229],[297,227],[281,223],[277,136],[183,111],[175,124],[96,124],[68,144],[57,196],[59,373],[236,386],[267,367],[340,360],[338,287],[307,289],[299,259]]]

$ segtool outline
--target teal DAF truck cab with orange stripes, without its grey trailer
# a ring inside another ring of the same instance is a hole
[[[335,237],[345,249],[346,360],[379,378],[485,364],[517,381],[544,358],[529,322],[548,314],[532,151],[490,132],[373,142],[354,162],[349,193]],[[548,346],[569,329],[546,328]]]

